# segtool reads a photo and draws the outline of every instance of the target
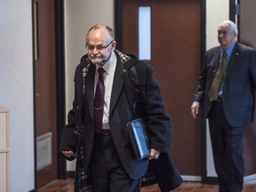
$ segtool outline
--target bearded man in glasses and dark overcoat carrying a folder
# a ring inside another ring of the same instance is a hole
[[[171,149],[172,124],[165,113],[159,84],[148,64],[116,50],[112,28],[92,27],[85,47],[88,53],[76,68],[75,99],[63,129],[61,154],[68,160],[77,156],[76,191],[93,188],[99,192],[139,192],[140,178],[147,172],[149,160],[168,156]],[[136,69],[139,83],[129,92],[136,91],[143,98],[143,104],[136,100],[131,107],[131,95],[125,92],[123,76],[132,67]],[[133,110],[143,111],[151,132],[149,156],[143,159],[136,158],[126,130],[126,124],[135,118]],[[78,149],[76,135],[82,138]],[[178,177],[179,183],[172,188],[177,188],[181,179],[173,170],[170,172],[176,175],[172,179]],[[83,172],[90,172],[91,187],[83,183],[87,177]]]

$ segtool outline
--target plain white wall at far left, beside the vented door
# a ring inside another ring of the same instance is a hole
[[[0,106],[11,111],[11,190],[26,192],[35,186],[31,0],[0,4]]]

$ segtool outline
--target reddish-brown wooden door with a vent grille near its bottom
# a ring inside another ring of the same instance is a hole
[[[54,1],[34,0],[36,188],[57,179]]]

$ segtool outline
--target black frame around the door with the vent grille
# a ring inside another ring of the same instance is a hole
[[[35,189],[37,189],[37,164],[36,164],[36,87],[35,87],[35,60],[36,55],[34,50],[35,47],[35,23],[33,20],[35,19],[35,10],[33,7],[33,0],[31,0],[31,12],[32,12],[32,47],[33,47],[33,86],[34,86],[34,172],[35,172]],[[59,147],[60,144],[60,133],[66,122],[66,114],[65,114],[65,52],[64,52],[64,0],[55,0],[54,3],[54,10],[55,10],[55,44],[56,44],[56,114],[57,114],[57,145]],[[57,148],[58,148],[57,147]],[[66,161],[64,158],[57,155],[57,177],[58,179],[66,179]]]

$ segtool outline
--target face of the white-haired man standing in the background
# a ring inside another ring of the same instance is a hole
[[[223,49],[236,42],[236,32],[232,31],[231,28],[226,25],[220,25],[218,28],[218,40]]]

